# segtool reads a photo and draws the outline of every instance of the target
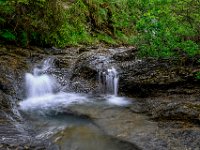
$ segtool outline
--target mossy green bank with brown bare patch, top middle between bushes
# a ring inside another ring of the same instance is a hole
[[[128,43],[135,26],[127,4],[128,0],[77,0],[68,4],[63,13],[65,22],[50,34],[48,41],[59,47]]]

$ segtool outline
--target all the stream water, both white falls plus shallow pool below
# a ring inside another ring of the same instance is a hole
[[[61,150],[140,149],[118,136],[128,134],[128,128],[136,133],[156,126],[128,110],[132,99],[117,96],[118,76],[114,68],[104,72],[105,80],[101,79],[106,94],[78,94],[56,89],[59,86],[56,79],[46,73],[50,62],[47,59],[34,68],[33,74],[26,74],[27,98],[19,103],[23,118],[36,132],[36,139],[51,139]],[[124,123],[131,124],[121,128]]]

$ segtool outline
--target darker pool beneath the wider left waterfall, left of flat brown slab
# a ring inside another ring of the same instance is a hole
[[[108,105],[105,99],[102,99],[99,103],[93,101],[86,104],[73,104],[71,108],[78,107],[84,111],[90,107],[103,110],[110,106],[119,107]],[[52,109],[47,113],[46,110],[34,108],[34,111],[23,111],[22,114],[31,128],[36,131],[37,139],[50,139],[60,150],[138,149],[134,144],[108,135],[90,116],[82,114],[82,111],[78,113],[70,109],[63,107],[62,110]]]

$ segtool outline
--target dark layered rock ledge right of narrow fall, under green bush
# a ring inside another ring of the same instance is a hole
[[[119,86],[121,92],[142,97],[168,90],[171,93],[196,93],[194,87],[199,89],[199,83],[194,78],[193,70],[197,68],[192,65],[181,66],[171,60],[143,59],[127,62],[121,65],[123,71]]]

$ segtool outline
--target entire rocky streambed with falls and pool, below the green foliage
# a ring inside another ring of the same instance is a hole
[[[200,147],[199,86],[191,78],[198,65],[138,60],[133,58],[135,50],[127,48],[122,51],[114,48],[114,53],[109,49],[89,48],[83,55],[72,49],[55,55],[52,52],[55,60],[53,66],[46,65],[46,71],[38,64],[47,57],[42,50],[33,53],[31,59],[27,53],[18,55],[20,59],[14,57],[15,49],[6,50],[5,56],[1,56],[0,149],[81,149],[88,141],[92,145],[91,138],[86,138],[89,135],[107,139],[101,143],[108,148],[111,143],[122,144],[122,149],[128,143],[130,149],[135,145],[148,150]],[[34,64],[39,70],[31,71]],[[40,72],[42,69],[44,72]],[[30,86],[41,85],[38,79],[42,75],[42,81],[53,83],[50,88],[35,88],[35,94],[38,90],[50,92],[31,96],[32,92],[27,91],[25,97],[24,89],[30,88],[24,84],[25,73],[32,81]],[[111,86],[105,84],[106,79],[112,79]],[[116,84],[124,97],[115,95]],[[140,98],[129,99],[125,95]],[[18,100],[22,100],[19,107]],[[98,140],[93,141],[95,145]]]

